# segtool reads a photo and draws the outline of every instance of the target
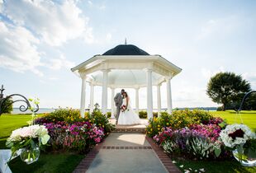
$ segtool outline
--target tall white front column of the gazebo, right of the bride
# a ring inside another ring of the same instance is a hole
[[[153,118],[153,93],[152,93],[152,70],[147,69],[147,108],[148,119]]]

